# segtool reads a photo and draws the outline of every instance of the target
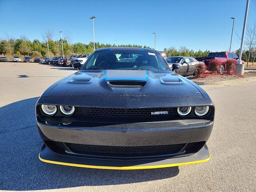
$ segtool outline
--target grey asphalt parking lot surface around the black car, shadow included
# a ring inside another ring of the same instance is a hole
[[[73,68],[0,62],[0,190],[255,191],[256,82],[204,86],[216,106],[208,162],[152,170],[97,170],[40,162],[38,97]]]

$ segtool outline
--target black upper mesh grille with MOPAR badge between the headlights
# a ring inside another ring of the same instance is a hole
[[[76,107],[75,115],[98,118],[159,118],[176,116],[177,110],[176,108]]]

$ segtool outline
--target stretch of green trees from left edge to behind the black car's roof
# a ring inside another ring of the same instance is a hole
[[[25,36],[21,36],[19,39],[4,39],[0,40],[0,54],[5,55],[9,58],[13,56],[30,56],[30,57],[48,57],[48,46],[50,57],[62,56],[62,44],[60,40],[48,39],[47,41],[40,42],[38,39],[33,41],[28,40]],[[120,47],[142,47],[136,44],[121,44]],[[115,44],[104,44],[95,43],[95,48],[106,48],[106,47],[116,47]],[[148,46],[143,46],[143,48],[150,48]],[[89,44],[84,43],[68,43],[68,40],[63,39],[63,52],[64,56],[76,55],[76,54],[91,54],[94,51],[93,42]]]

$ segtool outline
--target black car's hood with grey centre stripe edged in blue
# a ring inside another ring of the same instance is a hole
[[[111,86],[111,81],[144,81],[140,88]],[[171,71],[80,70],[64,78],[48,96],[170,96],[200,97],[189,81]]]

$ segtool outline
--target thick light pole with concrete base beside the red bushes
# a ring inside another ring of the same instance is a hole
[[[244,45],[244,34],[245,34],[246,21],[247,21],[247,16],[248,16],[249,3],[250,3],[250,0],[247,0],[246,10],[245,10],[245,15],[244,15],[244,28],[243,28],[243,33],[242,33],[239,58],[238,58],[238,62],[236,64],[236,70],[235,70],[236,74],[244,74],[244,64],[242,64],[241,60],[242,60],[242,51],[243,51],[243,45]]]

